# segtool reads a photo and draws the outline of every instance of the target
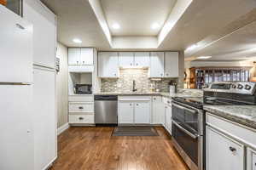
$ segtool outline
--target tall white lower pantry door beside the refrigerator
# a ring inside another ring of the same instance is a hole
[[[55,71],[34,69],[34,169],[44,169],[56,157]]]

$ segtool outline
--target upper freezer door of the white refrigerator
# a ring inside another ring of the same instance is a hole
[[[0,82],[32,82],[32,25],[2,5],[0,22]]]

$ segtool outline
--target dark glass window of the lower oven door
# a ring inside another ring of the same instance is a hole
[[[198,166],[198,138],[192,138],[174,123],[172,123],[172,138],[176,140],[177,144],[194,161],[195,165]]]

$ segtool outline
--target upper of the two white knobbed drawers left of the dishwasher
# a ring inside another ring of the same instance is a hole
[[[92,102],[88,103],[69,103],[69,112],[94,112],[94,105]]]

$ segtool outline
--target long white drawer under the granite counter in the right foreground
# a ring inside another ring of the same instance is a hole
[[[207,125],[241,140],[241,142],[256,148],[256,132],[249,128],[239,125],[236,122],[230,122],[222,117],[212,115],[207,112]]]

